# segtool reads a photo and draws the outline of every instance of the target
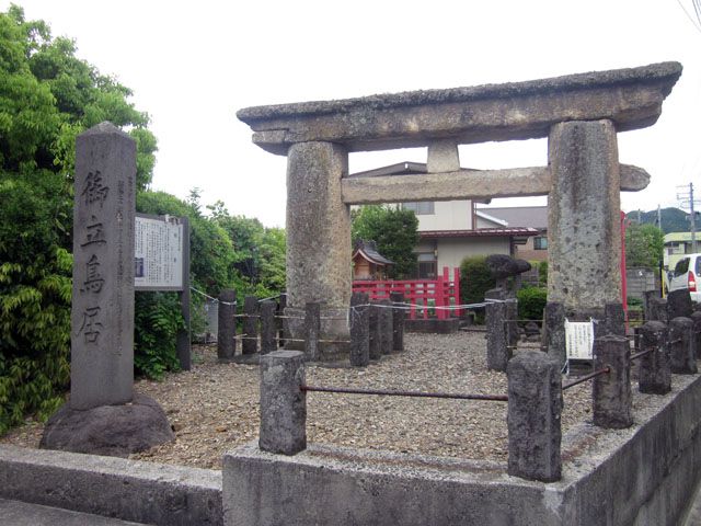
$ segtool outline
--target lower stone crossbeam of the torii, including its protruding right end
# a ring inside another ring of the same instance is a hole
[[[642,168],[620,164],[621,191],[639,192],[650,184]],[[484,199],[548,195],[552,178],[548,167],[504,170],[459,170],[447,173],[352,176],[341,182],[347,205],[406,201]]]

